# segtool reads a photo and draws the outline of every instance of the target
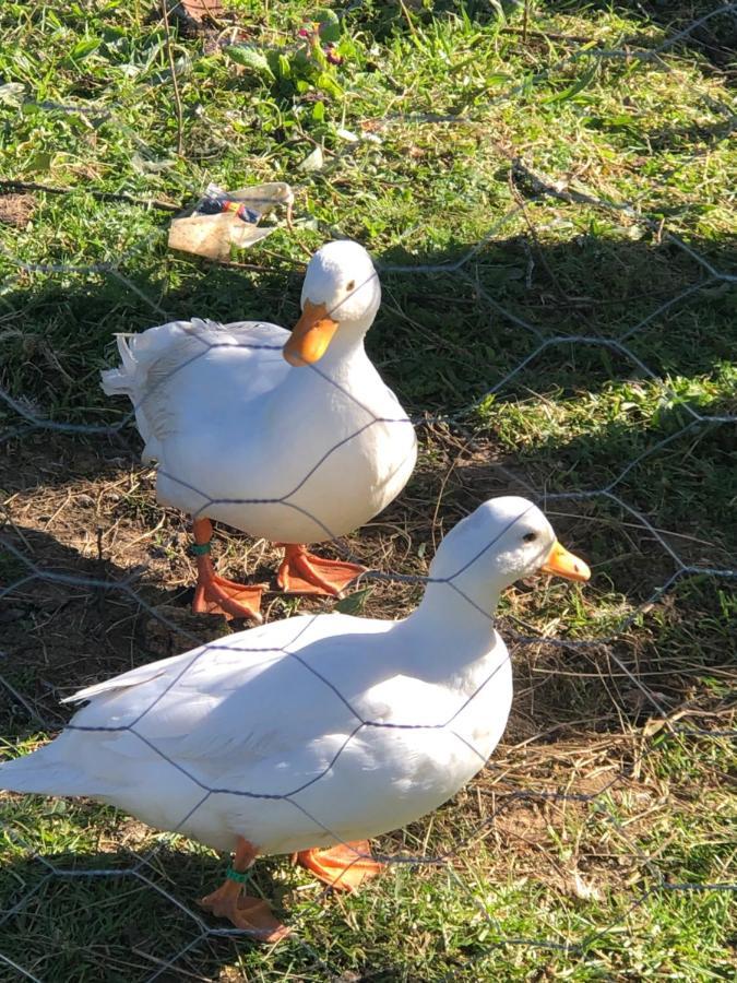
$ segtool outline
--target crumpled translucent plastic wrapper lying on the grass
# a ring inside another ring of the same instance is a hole
[[[274,232],[275,226],[259,228],[258,223],[277,205],[285,205],[287,225],[292,228],[294,200],[292,188],[284,181],[251,185],[238,191],[209,185],[191,215],[171,223],[169,249],[227,260],[230,246],[246,249]]]

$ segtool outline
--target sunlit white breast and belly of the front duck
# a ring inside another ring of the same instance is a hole
[[[365,689],[355,683],[356,730],[334,736],[331,767],[289,796],[289,808],[274,813],[272,819],[282,816],[286,825],[272,825],[268,852],[371,838],[414,822],[455,795],[498,744],[512,699],[509,654],[498,636],[460,686],[389,665],[377,673],[379,652],[365,658],[379,682]],[[336,662],[321,668],[338,691],[350,694],[349,665],[345,674]],[[295,809],[304,810],[306,826],[294,825]]]

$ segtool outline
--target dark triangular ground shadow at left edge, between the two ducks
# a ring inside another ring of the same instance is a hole
[[[120,567],[38,528],[5,528],[0,564],[5,734],[59,726],[68,719],[59,699],[81,686],[229,630],[225,618],[191,613],[191,588],[167,589],[145,564]]]

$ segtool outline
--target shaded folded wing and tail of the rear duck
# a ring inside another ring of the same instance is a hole
[[[218,324],[198,318],[119,334],[121,365],[102,374],[103,389],[130,398],[145,441],[144,460],[157,459],[194,394],[215,399],[234,369],[241,389],[273,388],[288,370],[280,354],[288,336],[265,321]]]

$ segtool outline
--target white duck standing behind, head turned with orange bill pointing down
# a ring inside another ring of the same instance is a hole
[[[340,594],[361,571],[300,544],[367,522],[415,466],[412,423],[364,350],[380,303],[369,254],[336,241],[309,263],[292,334],[193,320],[118,336],[103,388],[133,402],[158,500],[193,517],[195,612],[261,620],[262,588],[214,572],[211,519],[285,545],[283,590]]]

